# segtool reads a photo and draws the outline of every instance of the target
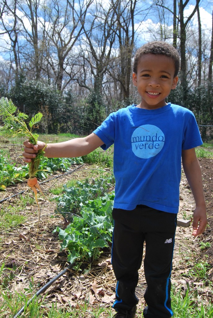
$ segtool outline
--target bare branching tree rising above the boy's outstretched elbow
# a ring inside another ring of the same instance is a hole
[[[93,89],[96,93],[102,93],[104,75],[110,68],[111,51],[116,37],[115,19],[114,4],[107,5],[98,0],[93,2],[87,23],[83,24],[82,20],[85,36],[81,45],[83,60],[90,68]],[[85,80],[84,85],[86,85]]]

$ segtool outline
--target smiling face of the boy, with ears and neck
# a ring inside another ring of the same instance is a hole
[[[171,89],[175,89],[178,77],[174,77],[175,63],[165,55],[145,54],[133,73],[133,84],[141,95],[137,106],[145,109],[157,109],[166,105],[165,99]]]

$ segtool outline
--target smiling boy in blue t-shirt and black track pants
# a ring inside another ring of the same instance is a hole
[[[112,265],[117,279],[115,318],[133,318],[135,288],[146,242],[144,273],[147,289],[145,318],[170,318],[171,269],[179,206],[181,157],[196,209],[193,232],[207,225],[202,175],[194,147],[202,144],[196,120],[184,107],[166,103],[178,81],[179,55],[169,44],[154,41],[135,55],[133,84],[139,105],[118,110],[92,134],[48,144],[47,157],[76,157],[114,143],[116,178],[113,208]],[[23,160],[30,162],[43,142],[24,142]],[[59,155],[60,154],[60,155]]]

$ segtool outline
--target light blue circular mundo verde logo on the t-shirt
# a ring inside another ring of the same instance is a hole
[[[154,125],[143,125],[135,129],[131,137],[132,151],[143,159],[156,156],[164,146],[163,131]]]

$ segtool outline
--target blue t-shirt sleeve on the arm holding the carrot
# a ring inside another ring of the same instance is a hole
[[[110,114],[105,121],[93,131],[103,142],[101,146],[103,150],[108,149],[115,140],[115,118],[114,114]]]

